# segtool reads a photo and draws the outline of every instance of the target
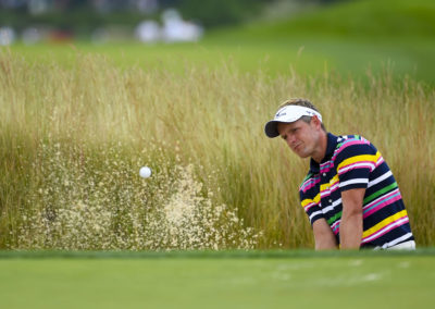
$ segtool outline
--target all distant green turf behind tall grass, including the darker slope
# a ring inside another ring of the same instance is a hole
[[[164,67],[183,72],[190,65],[226,65],[274,76],[296,70],[300,74],[339,73],[364,77],[368,70],[394,69],[435,83],[435,5],[430,0],[359,0],[337,2],[277,21],[253,22],[207,33],[198,44],[133,42],[91,45],[15,45],[11,50],[27,59],[74,64],[77,52],[109,57],[130,67]]]

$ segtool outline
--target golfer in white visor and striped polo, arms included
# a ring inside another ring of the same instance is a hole
[[[311,158],[299,195],[316,250],[415,248],[396,180],[369,140],[327,133],[318,109],[304,99],[282,104],[264,132]]]

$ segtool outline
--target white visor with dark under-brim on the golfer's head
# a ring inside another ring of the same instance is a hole
[[[318,116],[318,119],[322,122],[322,115],[306,107],[300,107],[300,106],[286,106],[282,109],[279,109],[275,118],[268,122],[264,126],[264,133],[268,137],[276,137],[279,135],[278,129],[277,129],[277,124],[283,122],[283,123],[290,123],[298,121],[302,116]]]

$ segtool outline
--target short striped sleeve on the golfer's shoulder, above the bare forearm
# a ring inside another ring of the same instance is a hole
[[[340,190],[366,188],[370,173],[380,159],[381,153],[366,139],[346,140],[339,147],[335,160]]]

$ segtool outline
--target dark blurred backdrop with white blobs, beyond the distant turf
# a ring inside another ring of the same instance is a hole
[[[44,40],[198,40],[203,29],[236,25],[278,5],[285,13],[333,1],[2,0],[1,44]],[[284,8],[287,4],[288,8]],[[273,9],[272,9],[273,10]]]

